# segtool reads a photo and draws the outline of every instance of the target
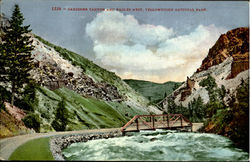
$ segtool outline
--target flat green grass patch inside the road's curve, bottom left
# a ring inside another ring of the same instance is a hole
[[[49,137],[26,142],[8,160],[54,160],[49,148]]]

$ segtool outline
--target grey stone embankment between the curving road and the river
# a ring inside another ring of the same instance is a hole
[[[112,137],[120,137],[122,133],[118,130],[111,132],[88,133],[88,134],[74,134],[74,135],[59,135],[50,139],[50,150],[55,160],[65,160],[62,150],[72,143],[87,142],[95,139],[108,139]]]

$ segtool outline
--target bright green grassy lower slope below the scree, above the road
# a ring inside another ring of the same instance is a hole
[[[42,119],[42,132],[53,130],[51,123],[63,98],[69,116],[66,130],[121,127],[134,115],[148,114],[122,103],[84,98],[66,88],[50,91],[40,87],[33,107]]]

